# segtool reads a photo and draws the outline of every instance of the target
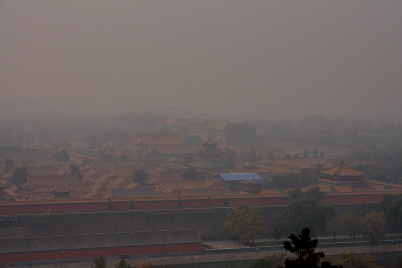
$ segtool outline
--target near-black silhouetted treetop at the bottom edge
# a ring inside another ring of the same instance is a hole
[[[310,238],[308,227],[304,228],[298,236],[290,234],[289,239],[291,242],[285,241],[283,245],[287,251],[296,255],[296,259],[286,259],[285,268],[342,268],[342,266],[332,265],[329,261],[323,261],[324,252],[314,252],[318,240]]]

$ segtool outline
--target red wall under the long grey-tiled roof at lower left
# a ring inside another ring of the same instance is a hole
[[[0,262],[202,250],[201,243],[0,254]]]

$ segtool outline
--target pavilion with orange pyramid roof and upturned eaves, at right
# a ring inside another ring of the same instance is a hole
[[[367,173],[346,165],[343,160],[338,165],[319,171],[320,182],[333,185],[365,185]]]

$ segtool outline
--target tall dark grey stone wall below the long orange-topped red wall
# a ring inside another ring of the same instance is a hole
[[[339,215],[345,211],[364,216],[377,207],[378,204],[373,203],[335,204],[335,217],[328,223],[326,234],[332,235],[334,228],[337,234],[345,234],[339,227]],[[285,208],[261,206],[267,227],[264,237],[272,237],[273,219]],[[224,222],[231,209],[212,207],[0,216],[0,238],[196,228],[204,241],[230,239]]]

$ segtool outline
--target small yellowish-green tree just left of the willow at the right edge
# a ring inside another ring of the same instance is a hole
[[[386,221],[384,215],[375,211],[366,214],[364,218],[364,235],[374,240],[385,237]]]

